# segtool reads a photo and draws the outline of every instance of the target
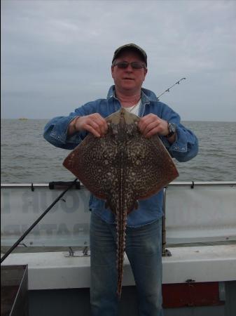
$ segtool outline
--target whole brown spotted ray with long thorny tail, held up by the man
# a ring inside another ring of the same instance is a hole
[[[119,298],[127,214],[137,208],[137,200],[151,197],[179,176],[160,138],[140,133],[139,119],[123,108],[111,114],[106,135],[89,134],[63,163],[116,216]]]

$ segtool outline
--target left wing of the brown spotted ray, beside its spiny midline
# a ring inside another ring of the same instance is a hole
[[[110,132],[103,138],[89,134],[63,165],[96,197],[106,199],[112,183],[116,183],[116,152]]]

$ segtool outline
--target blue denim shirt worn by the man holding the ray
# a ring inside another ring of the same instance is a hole
[[[107,117],[111,113],[120,109],[120,101],[116,98],[115,87],[111,86],[106,99],[99,99],[78,107],[74,112],[71,112],[68,117],[55,117],[46,124],[44,129],[44,138],[49,143],[56,147],[73,150],[81,140],[87,135],[86,131],[78,132],[71,137],[67,137],[67,129],[69,123],[76,116],[84,116],[92,113],[99,113],[102,117]],[[165,137],[160,136],[169,154],[179,162],[187,162],[195,157],[198,151],[197,138],[194,133],[186,129],[180,123],[179,114],[174,112],[168,105],[158,101],[158,98],[150,90],[141,89],[141,105],[139,107],[139,117],[153,113],[158,117],[171,121],[176,124],[176,140],[170,144]],[[115,223],[113,213],[109,209],[105,209],[105,202],[97,199],[94,195],[90,197],[90,210],[97,213],[107,223]],[[132,211],[127,216],[127,226],[139,227],[152,223],[162,216],[163,191],[149,197],[148,199],[140,200],[137,210]]]

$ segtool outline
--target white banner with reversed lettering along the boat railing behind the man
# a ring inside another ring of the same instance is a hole
[[[62,189],[1,184],[1,245],[11,246]],[[24,239],[26,246],[88,246],[90,192],[71,189]],[[236,181],[173,182],[165,196],[167,244],[236,240]]]

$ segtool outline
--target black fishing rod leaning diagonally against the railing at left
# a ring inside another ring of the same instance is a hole
[[[26,230],[26,232],[24,232],[24,234],[18,239],[17,242],[15,242],[15,244],[13,244],[13,246],[11,246],[10,249],[8,249],[8,251],[6,251],[6,254],[4,254],[4,256],[1,257],[1,263],[9,256],[9,254],[11,254],[11,252],[18,246],[18,244],[20,244],[20,242],[22,242],[22,240],[29,234],[29,232],[32,231],[32,229],[34,228],[34,226],[36,226],[39,221],[46,216],[46,213],[48,213],[48,211],[50,211],[50,209],[53,208],[53,206],[63,197],[63,195],[71,188],[73,187],[73,185],[76,183],[78,179],[76,178],[74,181],[72,181],[69,186],[67,187],[66,190],[64,190],[58,197],[57,199],[55,199],[55,201],[50,204],[50,206],[48,206],[48,209],[46,209],[46,211],[44,211],[41,216],[39,216],[39,218],[37,220],[35,220],[35,222]]]

